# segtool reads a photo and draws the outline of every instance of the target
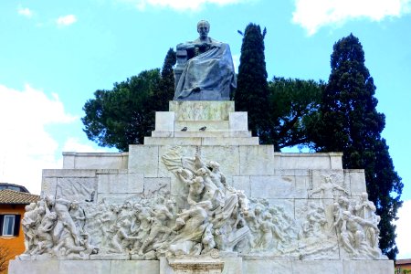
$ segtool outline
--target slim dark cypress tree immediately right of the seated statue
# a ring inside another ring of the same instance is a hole
[[[267,139],[269,127],[269,86],[264,56],[264,37],[258,25],[246,27],[241,46],[237,90],[234,100],[236,111],[248,111],[249,129],[261,142]]]

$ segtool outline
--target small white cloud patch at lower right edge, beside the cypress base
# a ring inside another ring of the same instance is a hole
[[[396,225],[396,245],[399,249],[397,258],[411,258],[411,200],[405,201],[398,210]]]

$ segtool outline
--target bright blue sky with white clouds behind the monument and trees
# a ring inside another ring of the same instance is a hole
[[[269,79],[323,79],[333,44],[351,33],[364,47],[385,113],[386,139],[403,178],[397,258],[411,258],[411,0],[0,0],[0,182],[39,194],[42,169],[62,152],[115,152],[88,141],[82,107],[197,37],[227,42],[237,67],[248,23],[267,27]]]

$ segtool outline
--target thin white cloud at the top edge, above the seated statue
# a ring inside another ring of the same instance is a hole
[[[170,7],[175,10],[200,10],[206,4],[230,5],[251,0],[117,0],[118,2],[135,5],[138,9],[143,10],[147,5],[155,7]],[[255,0],[254,0],[255,1]]]

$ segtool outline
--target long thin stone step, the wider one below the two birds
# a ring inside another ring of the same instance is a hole
[[[144,137],[144,145],[258,145],[258,137]]]

